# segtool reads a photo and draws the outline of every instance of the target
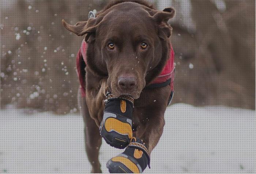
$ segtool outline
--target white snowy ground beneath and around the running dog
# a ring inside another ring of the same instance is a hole
[[[175,104],[145,173],[255,173],[255,111]],[[90,172],[83,120],[8,108],[0,116],[0,172]],[[121,153],[103,142],[99,159]]]

